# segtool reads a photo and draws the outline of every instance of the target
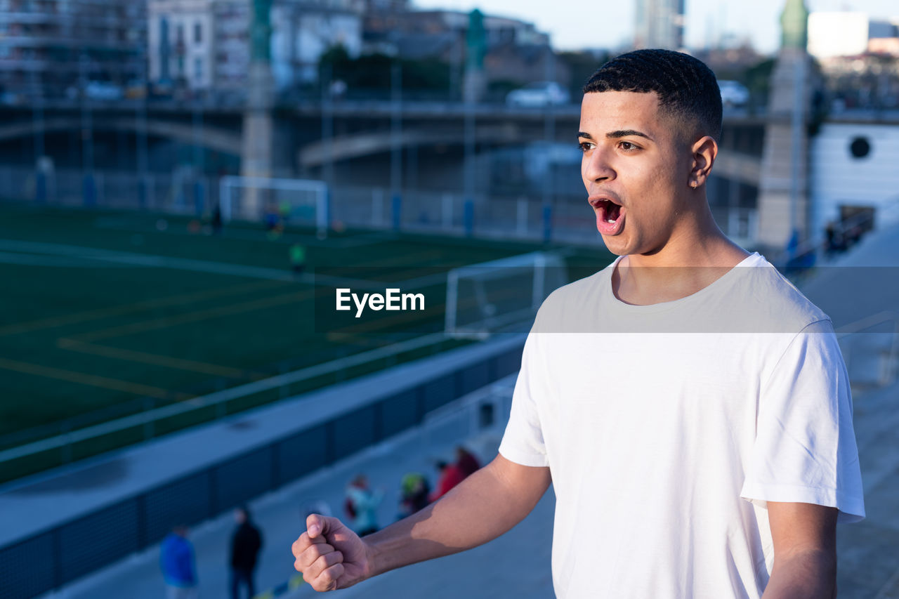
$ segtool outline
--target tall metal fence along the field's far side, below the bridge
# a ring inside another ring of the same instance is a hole
[[[0,168],[0,197],[71,207],[148,210],[209,217],[218,205],[219,178],[193,174],[133,174],[54,171],[40,174]],[[537,242],[599,244],[590,208],[583,197],[556,194],[502,195],[440,192],[351,185],[329,192],[332,225],[391,229],[424,234],[521,239]],[[756,210],[713,207],[729,236],[751,243],[757,235]],[[339,223],[339,224],[338,224]]]

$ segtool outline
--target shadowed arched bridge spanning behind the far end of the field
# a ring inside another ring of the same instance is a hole
[[[40,114],[40,116],[39,116]],[[378,156],[399,149],[436,147],[502,148],[535,141],[573,143],[580,106],[512,108],[503,104],[388,101],[309,101],[276,106],[273,131],[281,172],[308,173],[328,163]],[[0,146],[55,132],[84,130],[144,134],[186,146],[200,146],[230,156],[242,156],[245,112],[240,106],[213,103],[135,101],[45,103],[0,106]],[[325,121],[334,131],[324,138]],[[466,123],[473,123],[470,136]],[[725,114],[723,152],[717,173],[756,185],[761,173],[762,117],[741,112]],[[548,136],[548,138],[547,138]],[[286,154],[286,156],[284,155]]]

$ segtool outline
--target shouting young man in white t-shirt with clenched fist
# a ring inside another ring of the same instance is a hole
[[[620,257],[540,308],[499,455],[364,540],[309,516],[296,568],[331,590],[474,547],[551,480],[558,597],[832,597],[835,524],[864,516],[849,382],[829,319],[712,219],[715,76],[625,54],[585,86],[580,129]]]

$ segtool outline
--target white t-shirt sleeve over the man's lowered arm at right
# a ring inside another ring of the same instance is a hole
[[[761,387],[743,498],[827,505],[865,517],[849,375],[830,321],[806,326]]]

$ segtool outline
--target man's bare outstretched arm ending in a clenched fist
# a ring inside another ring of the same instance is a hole
[[[346,588],[394,568],[471,549],[512,528],[549,487],[548,468],[498,455],[440,501],[362,541],[336,518],[312,514],[293,544],[294,567],[316,591]]]

